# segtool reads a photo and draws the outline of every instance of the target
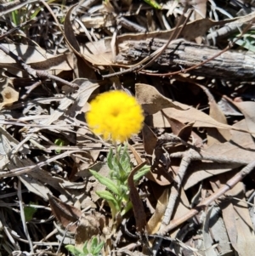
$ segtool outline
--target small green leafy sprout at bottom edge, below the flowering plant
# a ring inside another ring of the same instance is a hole
[[[99,242],[98,238],[94,236],[90,242],[86,241],[84,243],[82,249],[78,249],[71,244],[66,245],[65,248],[74,256],[99,256],[104,245],[105,242]]]

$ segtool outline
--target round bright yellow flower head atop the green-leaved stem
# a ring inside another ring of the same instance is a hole
[[[141,106],[122,91],[99,94],[90,103],[86,114],[88,127],[94,134],[102,134],[105,139],[124,142],[142,128],[144,115]]]

